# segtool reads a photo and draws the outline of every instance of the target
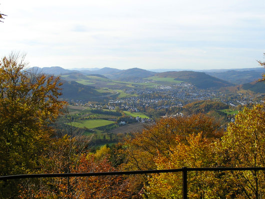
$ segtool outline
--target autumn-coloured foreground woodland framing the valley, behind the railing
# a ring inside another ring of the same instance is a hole
[[[224,128],[210,111],[227,105],[193,102],[183,107],[188,115],[158,118],[116,144],[91,149],[91,137],[70,125],[55,133],[51,124],[67,105],[60,88],[59,77],[27,70],[19,54],[1,59],[1,176],[265,166],[264,104],[242,108]],[[264,198],[264,179],[265,171],[188,172],[188,197]],[[0,198],[181,198],[181,186],[181,173],[35,178],[0,181]]]

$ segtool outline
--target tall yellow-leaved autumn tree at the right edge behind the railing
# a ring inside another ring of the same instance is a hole
[[[265,111],[263,105],[245,108],[236,115],[222,137],[227,166],[265,166]],[[264,171],[232,172],[230,180],[237,185],[237,198],[265,197]]]

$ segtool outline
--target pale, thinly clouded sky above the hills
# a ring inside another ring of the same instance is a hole
[[[0,0],[0,57],[30,66],[259,67],[264,0]]]

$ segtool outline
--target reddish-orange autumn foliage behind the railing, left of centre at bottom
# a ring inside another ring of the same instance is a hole
[[[78,137],[74,137],[76,139]],[[70,147],[71,140],[68,135],[58,138],[49,154],[46,164],[43,166],[46,172],[106,172],[116,171],[109,160],[110,149],[101,147],[95,153],[82,150],[82,146]],[[67,167],[67,156],[71,150],[70,167]],[[64,153],[64,154],[60,154]],[[90,177],[54,177],[44,178],[36,183],[24,183],[21,187],[21,198],[131,198],[126,176],[90,176]]]

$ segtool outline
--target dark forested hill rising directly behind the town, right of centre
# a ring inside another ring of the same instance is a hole
[[[194,71],[168,71],[155,74],[159,77],[173,77],[175,80],[181,80],[198,88],[220,88],[225,86],[231,86],[232,83],[210,76],[204,72]]]

